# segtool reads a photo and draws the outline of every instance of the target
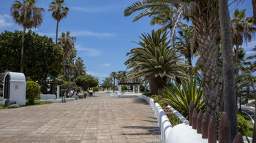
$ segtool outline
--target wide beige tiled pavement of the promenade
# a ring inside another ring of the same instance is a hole
[[[160,142],[157,119],[140,98],[94,97],[0,109],[0,142]]]

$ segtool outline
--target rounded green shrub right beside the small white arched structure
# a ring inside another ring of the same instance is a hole
[[[29,99],[29,104],[34,104],[34,98],[39,96],[40,87],[37,82],[26,82],[26,98]]]

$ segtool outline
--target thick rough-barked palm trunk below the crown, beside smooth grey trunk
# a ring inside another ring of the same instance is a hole
[[[193,25],[197,32],[198,52],[200,58],[197,60],[197,66],[203,74],[203,98],[206,106],[208,118],[214,117],[215,122],[219,123],[219,69],[218,69],[218,47],[214,40],[217,35],[218,14],[211,15],[214,18],[205,20],[205,16],[195,18]],[[202,23],[203,22],[203,23]],[[202,25],[206,27],[202,28]],[[217,125],[218,126],[218,125]]]

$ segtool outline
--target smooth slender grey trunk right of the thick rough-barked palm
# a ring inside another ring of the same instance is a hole
[[[224,109],[230,120],[230,142],[235,138],[237,126],[236,90],[233,65],[230,12],[228,0],[219,0],[219,21],[222,34],[222,74],[224,79]]]

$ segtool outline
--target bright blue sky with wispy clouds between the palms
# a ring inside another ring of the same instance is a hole
[[[33,29],[39,35],[53,38],[56,36],[56,20],[48,12],[48,6],[53,0],[37,0],[37,7],[45,9],[41,26]],[[151,26],[149,18],[142,18],[132,23],[136,14],[124,17],[124,9],[135,0],[65,0],[65,6],[69,7],[67,18],[59,23],[59,35],[70,31],[71,36],[77,38],[75,42],[77,55],[83,59],[88,74],[98,77],[99,81],[108,77],[112,71],[126,70],[124,62],[129,58],[126,54],[138,42],[141,33],[149,33],[157,30],[159,26]],[[232,4],[230,15],[238,9],[246,9],[246,17],[252,16],[252,1],[245,0],[243,4]],[[7,31],[23,30],[16,24],[10,15],[10,6],[13,0],[0,0],[0,33]],[[231,15],[232,18],[232,15]],[[256,45],[256,39],[244,43],[246,56],[255,54],[252,48]],[[197,58],[194,59],[195,63]]]

